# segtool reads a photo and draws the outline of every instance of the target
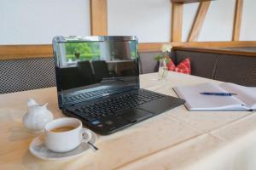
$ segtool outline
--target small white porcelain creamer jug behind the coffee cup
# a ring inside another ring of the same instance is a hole
[[[47,104],[38,105],[34,99],[27,100],[27,112],[23,116],[23,124],[32,131],[41,131],[46,123],[54,119],[53,114],[47,109]]]

